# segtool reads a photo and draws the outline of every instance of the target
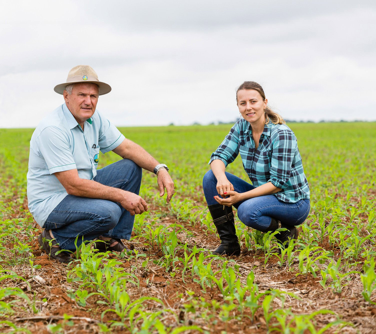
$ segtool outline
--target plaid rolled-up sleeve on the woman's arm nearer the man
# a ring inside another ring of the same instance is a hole
[[[221,160],[227,167],[228,164],[233,162],[239,154],[239,127],[236,123],[230,130],[229,134],[224,138],[223,142],[218,146],[217,150],[212,153],[209,165],[213,160]]]

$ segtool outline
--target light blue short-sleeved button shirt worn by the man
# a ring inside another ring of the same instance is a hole
[[[77,169],[82,179],[97,175],[99,150],[109,152],[125,137],[98,111],[85,121],[83,131],[66,104],[46,116],[30,140],[27,199],[29,210],[42,227],[67,192],[53,173]]]

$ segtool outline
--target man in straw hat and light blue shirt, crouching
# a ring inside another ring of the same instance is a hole
[[[45,117],[30,140],[27,198],[35,221],[44,227],[38,241],[59,262],[84,240],[101,251],[127,250],[135,214],[148,210],[139,193],[142,168],[157,175],[159,195],[174,194],[168,168],[141,146],[126,139],[102,113],[99,95],[111,87],[86,65],[73,67],[65,83],[55,86],[65,102]],[[99,151],[121,156],[97,171]]]

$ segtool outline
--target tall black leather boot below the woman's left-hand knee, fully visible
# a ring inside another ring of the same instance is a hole
[[[225,206],[223,209],[223,205],[213,204],[208,205],[208,208],[221,239],[220,246],[213,251],[213,254],[239,256],[240,245],[236,235],[232,207]]]

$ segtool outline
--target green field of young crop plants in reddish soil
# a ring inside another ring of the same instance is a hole
[[[291,123],[311,188],[299,239],[277,254],[273,236],[237,219],[240,257],[218,257],[202,177],[230,125],[121,128],[170,167],[176,193],[159,198],[144,171],[128,245],[70,266],[41,253],[27,208],[32,129],[0,129],[0,332],[365,333],[376,328],[376,123]],[[117,161],[100,155],[100,167]],[[247,180],[240,157],[227,171]]]

